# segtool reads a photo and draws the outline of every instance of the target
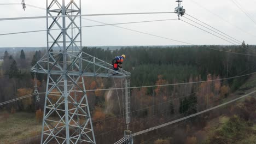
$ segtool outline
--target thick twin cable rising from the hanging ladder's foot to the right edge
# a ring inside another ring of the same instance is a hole
[[[180,118],[180,119],[176,119],[175,121],[172,121],[172,122],[168,122],[168,123],[165,123],[165,124],[161,124],[161,125],[158,125],[156,127],[153,127],[153,128],[150,128],[150,129],[146,129],[146,130],[142,130],[142,131],[139,131],[137,133],[134,133],[132,134],[132,136],[137,136],[137,135],[141,135],[141,134],[144,134],[144,133],[148,133],[149,131],[152,131],[152,130],[155,130],[155,129],[159,129],[159,128],[162,128],[162,127],[166,127],[167,125],[170,125],[170,124],[173,124],[173,123],[177,123],[177,122],[180,122],[180,121],[183,121],[185,119],[188,119],[188,118],[191,118],[191,117],[195,117],[197,115],[201,115],[202,113],[205,113],[205,112],[208,112],[208,111],[212,111],[214,109],[217,109],[219,107],[222,107],[224,105],[227,105],[227,104],[230,104],[230,103],[233,103],[234,101],[237,101],[237,100],[240,100],[240,99],[243,99],[245,97],[248,97],[249,95],[255,93],[256,91],[253,91],[251,93],[248,93],[246,95],[243,95],[242,97],[239,97],[239,98],[236,98],[236,99],[233,99],[233,100],[230,100],[224,104],[220,104],[220,105],[217,105],[217,106],[214,106],[210,109],[207,109],[207,110],[204,110],[204,111],[201,111],[201,112],[197,112],[197,113],[194,113],[193,115],[189,115],[187,117],[183,117],[183,118]]]

